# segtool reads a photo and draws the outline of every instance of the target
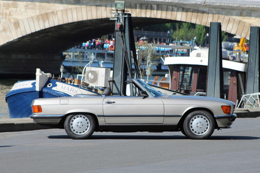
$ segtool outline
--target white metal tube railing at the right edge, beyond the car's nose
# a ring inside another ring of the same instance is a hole
[[[240,105],[241,108],[260,108],[259,95],[260,92],[243,95],[236,108],[239,108]]]

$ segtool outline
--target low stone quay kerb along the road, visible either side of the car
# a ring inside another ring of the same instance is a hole
[[[234,112],[238,118],[256,118],[260,116],[260,108],[236,108]],[[28,130],[50,129],[35,124],[31,118],[0,119],[1,132],[19,132]]]

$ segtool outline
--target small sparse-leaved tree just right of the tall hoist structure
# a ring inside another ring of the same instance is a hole
[[[154,44],[148,44],[145,41],[143,44],[136,43],[138,53],[138,68],[141,79],[145,74],[152,75],[154,65],[158,64],[159,56],[156,55],[156,47]]]

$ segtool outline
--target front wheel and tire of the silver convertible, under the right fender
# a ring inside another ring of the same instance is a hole
[[[183,128],[191,139],[207,139],[214,132],[215,122],[209,112],[194,111],[185,118]]]

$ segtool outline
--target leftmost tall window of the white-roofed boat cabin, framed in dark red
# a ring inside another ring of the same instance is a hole
[[[190,94],[192,91],[193,67],[180,66],[179,92]]]

